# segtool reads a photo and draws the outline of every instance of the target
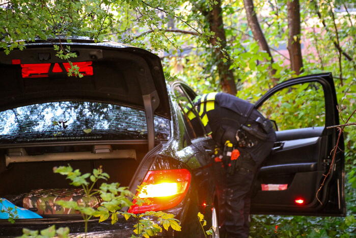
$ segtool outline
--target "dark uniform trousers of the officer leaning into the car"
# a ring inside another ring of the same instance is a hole
[[[224,111],[225,109],[221,109]],[[223,115],[231,112],[221,112]],[[257,110],[252,112],[252,118],[262,116]],[[235,118],[238,116],[235,115]],[[256,122],[248,120],[252,126]],[[253,137],[253,136],[250,136]],[[226,140],[229,138],[224,138]],[[252,186],[256,173],[262,162],[269,155],[276,140],[275,131],[267,134],[266,140],[253,138],[256,144],[252,148],[238,148],[241,162],[236,171],[230,175],[226,172],[223,163],[214,163],[214,173],[218,187],[220,217],[224,221],[223,232],[227,237],[248,237],[250,230],[250,207]],[[231,140],[230,140],[231,141]],[[244,160],[243,156],[249,154],[252,160]]]

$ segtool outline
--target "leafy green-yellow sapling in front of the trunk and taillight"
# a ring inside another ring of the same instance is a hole
[[[67,179],[72,181],[70,184],[73,186],[83,187],[88,198],[97,194],[100,195],[102,202],[97,209],[87,205],[78,204],[75,201],[60,200],[56,202],[65,208],[77,210],[83,215],[85,232],[87,232],[88,222],[92,217],[99,217],[99,222],[111,218],[111,223],[115,224],[119,220],[118,216],[123,216],[126,220],[130,217],[136,219],[137,222],[134,225],[133,232],[138,236],[132,235],[131,237],[149,238],[150,236],[162,232],[162,227],[166,230],[168,230],[169,227],[173,230],[181,230],[179,220],[175,219],[173,214],[163,213],[163,211],[146,211],[146,213],[143,214],[133,214],[121,211],[121,208],[132,205],[131,199],[129,199],[129,197],[132,197],[132,194],[127,187],[120,187],[118,182],[109,184],[103,182],[101,183],[99,190],[95,190],[94,185],[99,179],[107,180],[109,178],[109,175],[104,173],[101,167],[94,169],[92,174],[86,173],[83,175],[78,169],[73,170],[70,165],[54,168],[53,171],[54,173],[67,175]],[[91,182],[87,180],[88,178]],[[144,185],[145,184],[139,186],[137,189],[138,194],[143,189]],[[137,196],[133,196],[133,199],[135,204],[139,206],[148,202],[147,199],[140,199]]]

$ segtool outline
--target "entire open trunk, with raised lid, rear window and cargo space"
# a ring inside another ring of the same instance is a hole
[[[59,199],[100,203],[86,201],[53,167],[70,164],[84,174],[102,166],[110,176],[105,182],[128,186],[155,141],[170,137],[156,55],[109,42],[61,43],[77,56],[71,62],[79,77],[69,77],[70,63],[56,56],[53,44],[60,43],[0,52],[0,198],[43,218],[74,213],[56,205]]]

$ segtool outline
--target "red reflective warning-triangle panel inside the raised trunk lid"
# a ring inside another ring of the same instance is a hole
[[[19,64],[20,60],[12,60],[12,64]],[[73,65],[79,67],[79,72],[84,76],[93,75],[92,61],[88,62],[73,62]],[[53,64],[53,63],[52,63]],[[62,67],[61,67],[62,66]],[[70,69],[69,63],[54,63],[51,72],[51,63],[43,64],[21,64],[22,77],[48,77],[48,73],[61,73],[63,68],[68,72]]]

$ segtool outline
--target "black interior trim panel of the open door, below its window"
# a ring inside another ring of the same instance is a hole
[[[311,130],[311,131],[310,131]],[[295,129],[277,131],[277,150],[272,149],[271,155],[262,165],[255,183],[255,204],[284,204],[295,206],[296,194],[304,198],[304,202],[313,201],[316,184],[323,171],[318,171],[318,162],[322,160],[320,150],[323,140],[322,129],[313,128],[299,131],[295,140],[288,140],[295,135]],[[316,133],[317,132],[317,133]],[[287,140],[286,140],[287,139]],[[262,191],[261,184],[287,184],[285,190]],[[278,195],[277,195],[278,194]]]

